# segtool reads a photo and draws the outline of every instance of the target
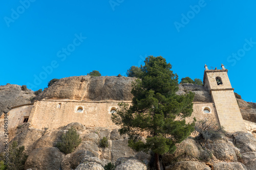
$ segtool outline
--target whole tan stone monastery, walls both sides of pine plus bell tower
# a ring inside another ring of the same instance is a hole
[[[223,64],[221,68],[208,69],[205,65],[202,88],[205,88],[211,96],[212,102],[194,102],[193,114],[186,118],[186,122],[191,122],[193,117],[197,120],[207,118],[224,127],[227,132],[256,130],[255,123],[242,118],[227,75],[228,70]],[[127,98],[124,96],[124,99]],[[32,104],[13,107],[8,112],[9,128],[29,123],[29,126],[37,129],[57,129],[78,122],[86,127],[115,129],[117,126],[111,120],[111,113],[118,109],[119,102],[131,104],[132,101],[131,98],[122,101],[111,99],[96,101],[83,100],[83,98],[35,100]]]

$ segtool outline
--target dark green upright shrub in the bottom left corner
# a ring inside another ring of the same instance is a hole
[[[7,164],[7,170],[23,170],[25,161],[28,158],[23,151],[25,147],[18,147],[17,141],[13,141],[9,149],[9,161]]]

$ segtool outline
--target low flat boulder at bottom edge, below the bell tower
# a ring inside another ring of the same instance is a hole
[[[239,170],[247,170],[246,166],[240,162],[219,162],[213,165],[214,170],[223,170],[223,169],[239,169]]]

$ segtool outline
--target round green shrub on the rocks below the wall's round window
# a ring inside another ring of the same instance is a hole
[[[82,139],[75,130],[75,128],[70,128],[66,134],[62,134],[61,142],[57,143],[57,148],[65,153],[69,154],[74,151],[76,147],[81,143]]]

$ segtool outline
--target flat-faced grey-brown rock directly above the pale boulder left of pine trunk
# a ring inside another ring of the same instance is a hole
[[[120,157],[135,156],[137,152],[128,147],[128,138],[113,140],[111,143],[111,161],[115,162]]]

